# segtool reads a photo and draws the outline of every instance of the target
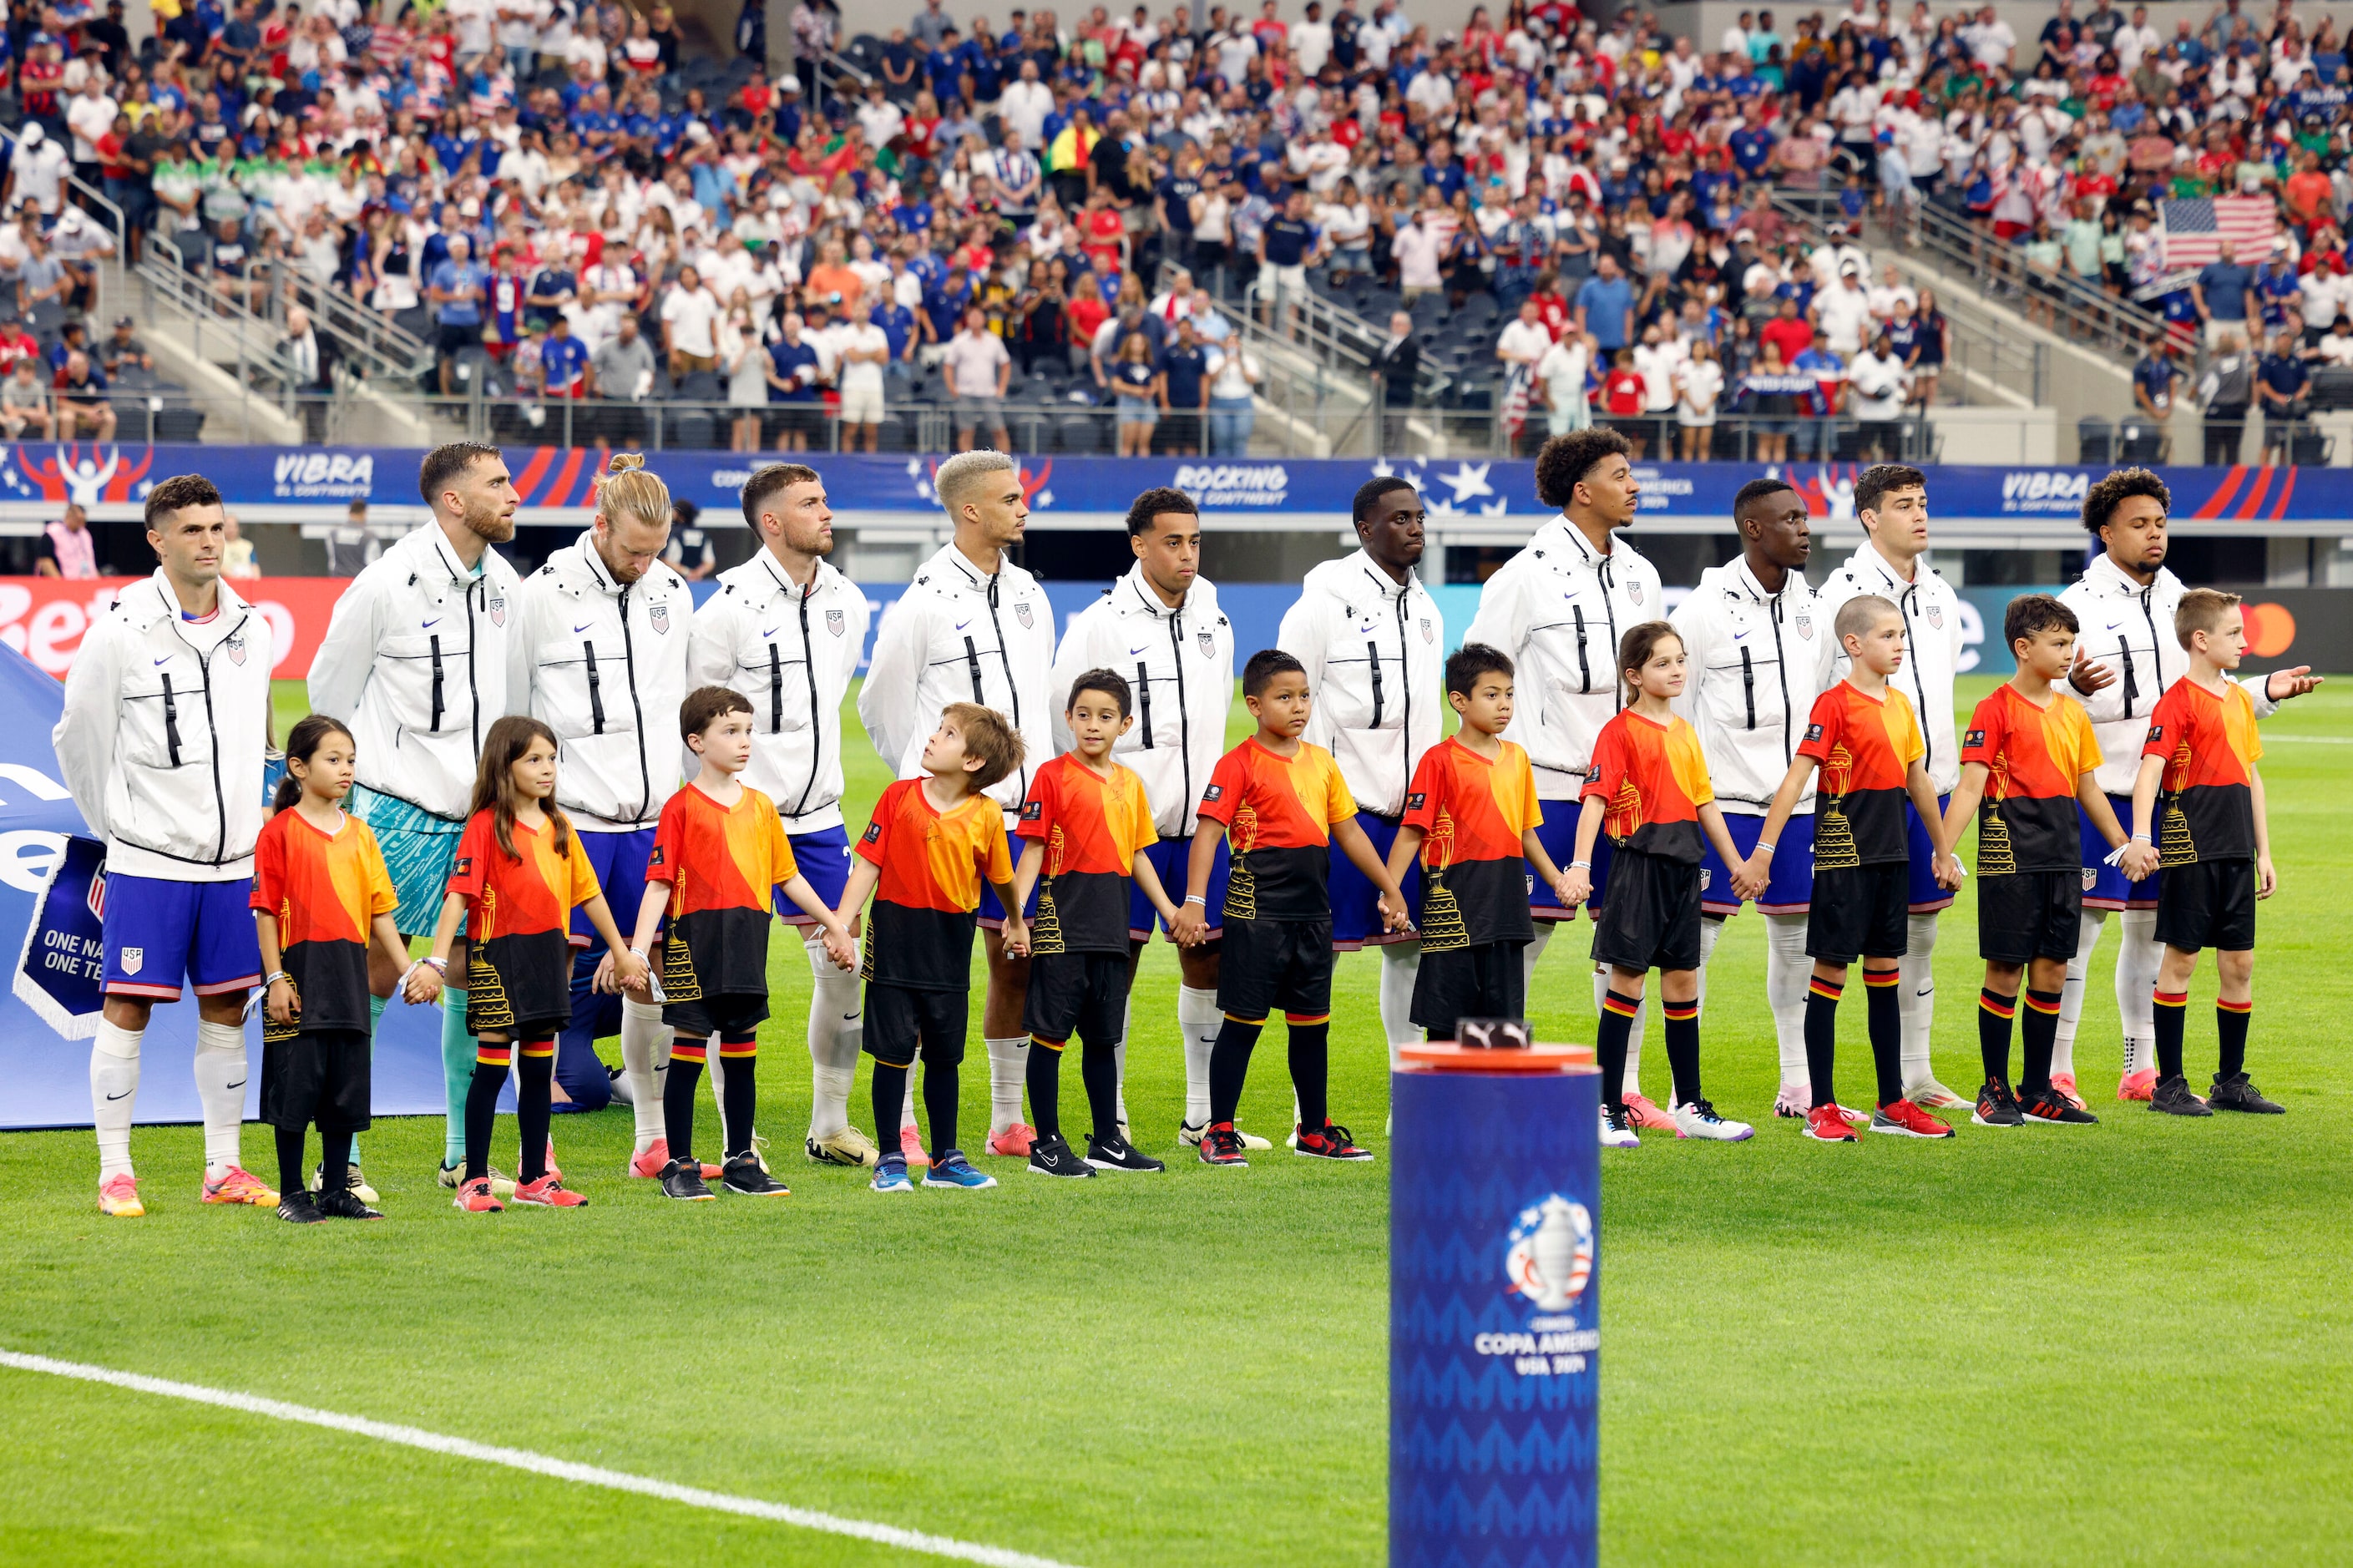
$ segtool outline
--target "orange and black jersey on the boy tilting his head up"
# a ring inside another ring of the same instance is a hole
[[[859,855],[882,873],[866,918],[866,979],[911,991],[967,989],[981,883],[1014,873],[1005,810],[988,796],[939,810],[922,779],[899,779],[875,800]]]

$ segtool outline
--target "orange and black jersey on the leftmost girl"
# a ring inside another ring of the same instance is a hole
[[[254,843],[252,906],[278,916],[278,968],[294,977],[301,1017],[268,1041],[325,1029],[367,1029],[367,928],[400,904],[376,836],[358,817],[322,833],[294,808],[271,817]]]

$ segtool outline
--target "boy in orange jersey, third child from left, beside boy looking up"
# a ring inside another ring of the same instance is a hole
[[[788,1189],[760,1165],[751,1144],[760,1022],[767,1017],[772,890],[781,888],[784,897],[824,928],[826,956],[838,968],[849,968],[854,949],[849,928],[793,864],[776,803],[736,777],[751,765],[751,699],[725,685],[687,692],[678,706],[678,732],[704,768],[661,808],[645,864],[638,939],[631,944],[642,961],[668,913],[661,942],[661,1022],[678,1038],[661,1088],[664,1132],[671,1140],[661,1196],[689,1203],[713,1196],[704,1163],[694,1158],[694,1090],[711,1036],[718,1036],[720,1059],[727,1064],[720,1088],[727,1163],[718,1172],[720,1184],[753,1198],[774,1198]]]

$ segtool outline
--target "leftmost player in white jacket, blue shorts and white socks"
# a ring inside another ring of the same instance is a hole
[[[278,1203],[238,1163],[245,994],[261,984],[247,906],[268,746],[268,617],[221,582],[221,492],[198,473],[146,499],[160,565],[82,638],[49,737],[89,831],[106,841],[106,1003],[89,1050],[99,1212],[146,1212],[132,1172],[139,1043],[155,1003],[195,986],[205,1203]]]

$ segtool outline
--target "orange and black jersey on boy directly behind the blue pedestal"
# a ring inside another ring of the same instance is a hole
[[[1449,735],[1421,753],[1405,789],[1405,826],[1421,841],[1424,951],[1534,942],[1520,838],[1544,822],[1527,751],[1504,742],[1485,758]]]

